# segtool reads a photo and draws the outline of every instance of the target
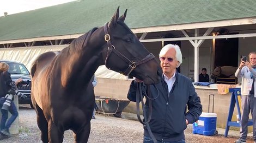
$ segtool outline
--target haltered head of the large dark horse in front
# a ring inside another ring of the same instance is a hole
[[[146,85],[157,83],[160,65],[124,23],[126,11],[119,17],[118,7],[111,21],[104,25],[107,48],[102,55],[105,65],[115,72],[135,76]]]

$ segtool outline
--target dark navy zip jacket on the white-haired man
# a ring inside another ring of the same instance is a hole
[[[170,93],[168,93],[168,86],[163,77],[161,77],[161,82],[156,84],[159,96],[152,101],[153,113],[149,125],[157,140],[178,141],[185,139],[186,119],[191,124],[197,121],[202,113],[200,98],[197,96],[190,79],[179,73],[176,73],[175,78]],[[136,88],[137,82],[132,81],[127,95],[129,100],[135,102]],[[150,90],[153,98],[155,98],[158,94],[156,88],[151,85]],[[145,108],[148,116],[148,101],[145,102]],[[144,135],[150,137],[147,128],[144,128]]]

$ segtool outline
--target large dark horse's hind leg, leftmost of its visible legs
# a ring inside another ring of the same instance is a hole
[[[36,111],[36,121],[38,124],[38,127],[41,131],[41,140],[44,143],[48,142],[48,123],[47,120],[45,119],[45,115],[42,112],[42,109],[39,108],[38,105],[35,105],[35,111]]]

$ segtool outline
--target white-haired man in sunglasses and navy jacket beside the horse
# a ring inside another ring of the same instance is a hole
[[[176,70],[182,63],[179,46],[164,46],[159,57],[163,73],[161,82],[156,84],[158,90],[154,86],[150,88],[151,95],[157,98],[152,101],[153,111],[149,126],[157,142],[184,143],[184,130],[187,124],[197,121],[202,113],[200,98],[190,79]],[[138,82],[142,81],[136,79],[131,82],[127,95],[131,101],[136,101]],[[145,113],[149,113],[148,102],[145,102]],[[144,143],[146,142],[153,142],[153,139],[150,137],[149,129],[144,127]]]

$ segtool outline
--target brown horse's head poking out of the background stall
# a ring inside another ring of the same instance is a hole
[[[236,69],[237,67],[232,66],[216,67],[211,73],[211,79],[215,79],[216,77],[235,77]]]

